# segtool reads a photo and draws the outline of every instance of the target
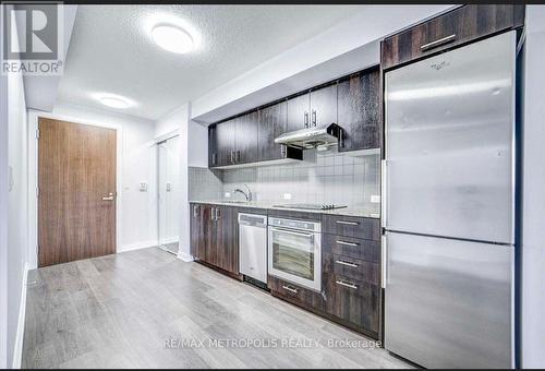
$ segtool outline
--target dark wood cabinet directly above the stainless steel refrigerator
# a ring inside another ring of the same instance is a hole
[[[522,4],[469,4],[386,38],[382,64],[387,70],[438,51],[522,27]]]

